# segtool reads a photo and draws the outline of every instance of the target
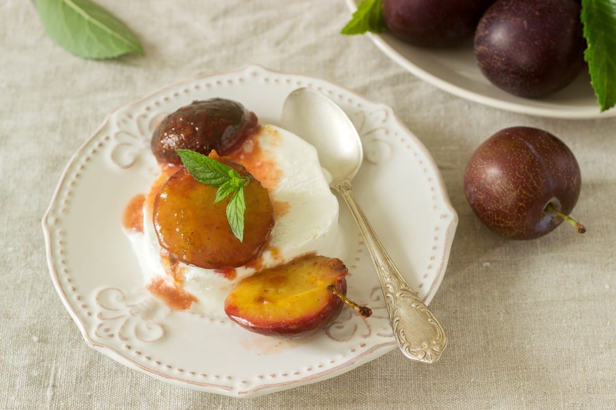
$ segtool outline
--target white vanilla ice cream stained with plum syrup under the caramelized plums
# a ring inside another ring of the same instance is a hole
[[[147,283],[169,277],[195,296],[190,312],[226,318],[224,299],[242,278],[305,253],[340,257],[344,239],[338,229],[338,200],[332,194],[314,146],[291,132],[264,125],[231,155],[265,186],[274,205],[275,225],[258,263],[229,272],[179,263],[172,278],[152,223],[152,202],[144,203],[144,231],[127,232]],[[164,254],[164,252],[163,252]]]

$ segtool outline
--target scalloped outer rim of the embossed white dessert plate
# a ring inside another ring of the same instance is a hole
[[[418,151],[421,151],[421,153],[424,156],[424,159],[428,160],[429,162],[428,165],[432,169],[432,171],[434,171],[434,175],[436,176],[436,179],[437,179],[436,186],[438,187],[439,193],[442,198],[442,205],[444,205],[445,207],[444,213],[447,213],[449,216],[449,223],[447,224],[447,229],[445,232],[444,252],[442,254],[442,259],[440,261],[439,266],[437,266],[436,268],[437,273],[434,278],[434,281],[432,282],[432,285],[430,286],[429,290],[426,291],[426,296],[424,297],[424,302],[426,303],[426,305],[429,304],[429,302],[432,300],[432,298],[434,297],[434,294],[436,294],[436,291],[438,290],[440,286],[440,283],[442,282],[442,278],[444,277],[444,272],[447,267],[447,262],[448,262],[448,258],[449,258],[449,254],[451,250],[451,245],[453,242],[453,237],[455,234],[455,229],[458,225],[458,215],[450,202],[450,199],[447,194],[447,190],[445,189],[444,181],[442,179],[442,175],[440,174],[440,171],[438,170],[436,162],[434,162],[434,159],[432,158],[431,154],[429,154],[429,151],[428,149],[426,149],[424,144],[421,143],[421,141],[416,137],[416,135],[410,132],[410,130],[408,130],[406,125],[403,124],[403,122],[399,119],[399,117],[395,115],[394,109],[392,109],[391,106],[387,106],[386,104],[375,102],[373,100],[365,98],[362,95],[359,95],[359,93],[355,93],[354,91],[349,90],[346,87],[343,87],[341,85],[334,84],[333,82],[326,81],[324,79],[314,77],[314,76],[307,76],[305,74],[285,73],[283,71],[276,71],[276,70],[272,70],[269,68],[264,68],[261,65],[251,64],[251,65],[242,66],[241,68],[231,70],[231,71],[222,71],[222,72],[213,73],[213,74],[198,74],[197,76],[187,77],[180,81],[172,82],[171,84],[165,85],[164,87],[161,87],[158,90],[150,92],[147,95],[144,95],[144,97],[131,101],[128,104],[117,106],[116,108],[112,109],[107,114],[107,116],[102,121],[102,123],[99,125],[99,127],[97,127],[95,131],[88,138],[86,138],[86,140],[84,140],[82,144],[79,145],[78,149],[76,149],[76,151],[73,153],[73,155],[68,160],[67,165],[65,165],[60,175],[57,186],[54,189],[54,194],[52,195],[51,201],[49,203],[49,207],[47,207],[47,210],[44,213],[44,216],[42,218],[41,223],[43,227],[43,233],[44,233],[44,239],[45,239],[45,245],[46,245],[47,266],[51,274],[52,283],[54,284],[55,290],[60,294],[60,299],[62,300],[62,303],[65,306],[65,309],[67,309],[67,311],[71,315],[71,318],[73,318],[73,321],[75,321],[76,325],[78,326],[79,331],[81,332],[82,336],[84,337],[84,340],[86,341],[86,344],[92,347],[93,349],[105,355],[108,355],[109,357],[113,358],[114,360],[120,363],[123,363],[129,368],[139,369],[140,371],[150,376],[153,376],[156,379],[163,380],[164,382],[170,382],[171,384],[174,384],[174,385],[180,385],[182,387],[192,388],[192,389],[201,390],[201,391],[209,391],[209,392],[211,392],[211,390],[204,390],[204,389],[205,388],[210,388],[210,389],[217,388],[217,389],[223,390],[223,392],[214,392],[214,393],[222,393],[222,394],[225,394],[224,393],[225,390],[230,390],[230,387],[226,385],[215,385],[209,382],[195,382],[195,381],[191,381],[187,379],[182,379],[180,377],[174,377],[169,374],[160,373],[158,371],[153,370],[152,368],[148,368],[147,366],[142,365],[136,360],[133,360],[127,357],[126,355],[124,355],[123,353],[115,349],[114,347],[111,347],[110,345],[103,344],[103,343],[97,342],[94,339],[92,339],[92,337],[88,333],[86,321],[84,321],[83,318],[81,318],[79,313],[76,311],[75,307],[73,307],[70,304],[70,302],[68,301],[69,299],[68,295],[65,293],[63,286],[60,283],[59,272],[57,271],[54,265],[54,255],[53,255],[53,250],[52,250],[52,238],[51,238],[51,228],[49,226],[49,217],[52,211],[54,210],[57,200],[59,199],[60,192],[65,186],[65,182],[67,181],[67,176],[70,173],[71,167],[73,166],[73,164],[75,164],[76,160],[78,160],[82,156],[83,152],[92,142],[92,140],[94,140],[99,135],[99,133],[103,130],[103,128],[107,127],[108,123],[110,122],[111,117],[113,116],[113,114],[115,114],[115,112],[123,108],[129,108],[131,106],[136,106],[137,104],[142,103],[145,100],[148,100],[148,98],[158,95],[159,93],[162,93],[166,90],[173,89],[174,87],[177,87],[179,85],[186,84],[188,82],[192,82],[192,81],[200,80],[200,79],[208,79],[212,77],[224,76],[227,74],[243,73],[243,72],[248,72],[250,70],[262,71],[263,73],[281,74],[283,76],[296,76],[296,77],[302,77],[304,79],[314,79],[315,81],[319,81],[319,82],[323,82],[324,84],[331,85],[331,87],[333,87],[334,89],[335,88],[342,89],[345,92],[349,93],[350,95],[353,95],[359,98],[360,100],[368,101],[369,103],[374,104],[375,106],[380,106],[381,108],[386,109],[387,111],[391,112],[392,119],[394,119],[395,123],[407,133],[407,136],[411,138],[411,140],[413,140],[413,143],[415,144],[414,148],[416,148]],[[299,385],[308,384],[312,382],[313,380],[314,381],[323,380],[323,379],[328,378],[328,376],[333,377],[338,374],[345,373],[346,371],[345,369],[349,368],[349,366],[352,366],[355,363],[358,363],[358,362],[364,363],[366,361],[366,358],[379,357],[380,355],[383,355],[391,351],[392,349],[394,349],[394,347],[395,347],[395,341],[375,344],[371,346],[369,349],[365,350],[365,352],[362,352],[360,355],[357,355],[351,360],[344,361],[340,363],[339,365],[336,365],[333,368],[326,369],[325,371],[322,371],[320,373],[319,372],[313,373],[305,377],[302,377],[301,379],[288,380],[286,382],[272,382],[269,384],[254,385],[248,390],[238,391],[237,395],[234,395],[234,396],[237,396],[237,397],[255,396],[253,393],[259,392],[259,390],[271,389],[271,388],[275,388],[279,386],[287,386],[287,385],[293,385],[293,387],[296,387]],[[379,352],[379,350],[381,350],[381,352]],[[375,352],[379,352],[379,354],[375,355]],[[354,366],[351,368],[354,368]]]

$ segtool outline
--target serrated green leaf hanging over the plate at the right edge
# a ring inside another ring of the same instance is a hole
[[[594,93],[601,111],[616,104],[616,0],[582,0],[582,23]]]

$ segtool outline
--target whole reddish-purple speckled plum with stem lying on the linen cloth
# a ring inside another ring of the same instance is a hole
[[[511,127],[484,141],[464,171],[464,192],[472,210],[496,234],[535,239],[562,218],[546,212],[552,203],[566,215],[582,186],[580,167],[556,136],[538,128]]]

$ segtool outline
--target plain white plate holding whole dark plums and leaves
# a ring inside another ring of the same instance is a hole
[[[361,0],[345,0],[351,12]],[[601,112],[588,73],[581,73],[559,92],[530,99],[506,93],[492,85],[481,73],[472,40],[461,47],[430,49],[415,47],[390,33],[368,37],[387,57],[416,77],[466,100],[532,116],[562,119],[607,118],[616,116],[616,108]]]

